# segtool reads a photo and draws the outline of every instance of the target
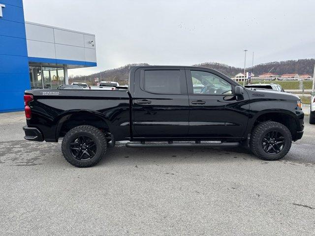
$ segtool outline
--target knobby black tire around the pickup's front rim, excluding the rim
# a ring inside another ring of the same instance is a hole
[[[283,149],[276,154],[269,154],[263,150],[262,139],[265,135],[271,131],[280,132],[285,138],[285,144]],[[274,121],[265,121],[259,123],[252,129],[250,148],[252,153],[263,160],[273,161],[279,160],[284,157],[291,148],[292,144],[292,135],[290,130],[281,123]]]

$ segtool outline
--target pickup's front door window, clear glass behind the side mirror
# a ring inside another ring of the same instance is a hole
[[[231,95],[232,86],[221,77],[205,71],[191,70],[194,94]]]

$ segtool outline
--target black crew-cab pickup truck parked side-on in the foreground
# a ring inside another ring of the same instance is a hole
[[[25,139],[63,138],[63,155],[77,167],[95,165],[123,140],[130,148],[243,145],[277,160],[304,128],[298,96],[246,89],[203,67],[135,66],[127,89],[27,90],[24,100]]]

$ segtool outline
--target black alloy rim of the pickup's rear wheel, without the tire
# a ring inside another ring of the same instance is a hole
[[[90,160],[95,156],[97,150],[95,141],[86,135],[75,138],[69,148],[72,156],[80,161]]]

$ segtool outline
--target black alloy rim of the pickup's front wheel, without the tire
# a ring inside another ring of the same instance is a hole
[[[268,154],[278,154],[284,149],[285,138],[279,131],[270,131],[262,139],[262,148]]]

